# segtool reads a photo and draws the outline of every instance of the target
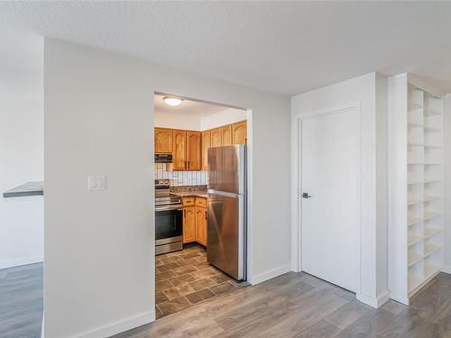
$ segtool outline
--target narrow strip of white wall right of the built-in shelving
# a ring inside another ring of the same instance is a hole
[[[445,269],[451,273],[451,94],[445,96]]]

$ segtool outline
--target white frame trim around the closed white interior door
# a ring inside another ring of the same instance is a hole
[[[302,121],[308,120],[318,116],[325,116],[330,114],[343,114],[349,111],[356,111],[360,119],[360,132],[359,132],[359,142],[360,142],[360,158],[358,159],[360,166],[358,168],[357,175],[357,187],[358,187],[358,197],[360,199],[358,207],[358,226],[357,232],[357,245],[356,252],[356,281],[355,281],[355,292],[357,298],[360,298],[361,287],[362,287],[362,226],[364,224],[362,218],[362,167],[364,165],[364,126],[362,118],[362,103],[355,102],[349,105],[341,105],[333,108],[328,108],[325,110],[317,112],[306,112],[296,114],[292,118],[292,151],[291,151],[291,269],[293,271],[299,272],[302,270],[302,250],[301,250],[301,238],[302,238],[302,156],[299,156],[299,151],[302,149]]]

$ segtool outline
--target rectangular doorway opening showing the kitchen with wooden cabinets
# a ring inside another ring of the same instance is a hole
[[[248,285],[249,111],[155,93],[155,313]]]

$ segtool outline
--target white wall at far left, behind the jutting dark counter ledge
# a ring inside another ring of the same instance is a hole
[[[43,179],[43,39],[0,33],[0,193]],[[42,196],[0,195],[0,269],[43,258]]]

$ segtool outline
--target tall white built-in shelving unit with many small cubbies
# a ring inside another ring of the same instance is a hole
[[[443,95],[389,79],[389,288],[404,304],[444,264]]]

